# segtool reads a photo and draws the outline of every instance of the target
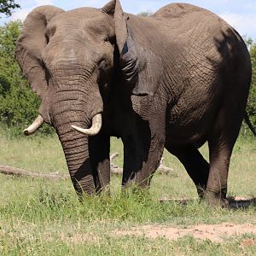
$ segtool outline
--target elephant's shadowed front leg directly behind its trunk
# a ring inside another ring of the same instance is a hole
[[[89,138],[90,163],[96,184],[96,192],[109,189],[110,183],[110,160],[109,160],[110,137],[97,135]]]

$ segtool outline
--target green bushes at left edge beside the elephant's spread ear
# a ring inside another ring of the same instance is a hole
[[[20,67],[15,61],[15,41],[20,33],[20,21],[9,22],[0,27],[0,120],[12,135],[32,123],[38,115],[39,100],[22,79]],[[49,132],[47,126],[44,133]]]

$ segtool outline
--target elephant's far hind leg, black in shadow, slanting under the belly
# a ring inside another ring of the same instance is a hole
[[[166,149],[174,154],[183,164],[189,177],[195,183],[197,193],[200,198],[203,198],[207,189],[207,180],[209,175],[209,163],[203,158],[201,153],[193,145],[181,147],[172,147],[166,145]]]

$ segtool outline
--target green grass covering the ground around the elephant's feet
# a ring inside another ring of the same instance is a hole
[[[1,132],[0,132],[1,134]],[[36,172],[67,173],[57,137],[11,139],[0,135],[1,165]],[[122,145],[113,138],[111,152]],[[207,147],[201,152],[207,157]],[[256,197],[256,143],[240,138],[230,165],[229,195]],[[113,194],[86,198],[80,203],[69,180],[8,177],[0,175],[1,255],[253,255],[252,234],[225,238],[224,243],[183,236],[177,241],[164,237],[114,236],[115,230],[129,230],[144,224],[256,224],[256,209],[227,210],[208,207],[196,199],[195,187],[183,166],[165,152],[165,164],[172,175],[156,174],[151,188],[132,193],[120,191],[120,178],[112,177]],[[187,204],[161,203],[160,197],[189,198]]]

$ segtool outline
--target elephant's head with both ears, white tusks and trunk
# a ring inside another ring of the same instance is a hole
[[[16,59],[41,98],[38,118],[24,133],[32,134],[44,122],[55,127],[79,195],[95,192],[88,136],[101,132],[101,91],[112,83],[114,61],[134,94],[151,93],[150,85],[139,82],[143,72],[127,19],[119,0],[102,9],[68,12],[42,6],[27,15],[17,40]]]

